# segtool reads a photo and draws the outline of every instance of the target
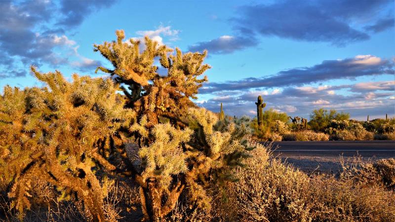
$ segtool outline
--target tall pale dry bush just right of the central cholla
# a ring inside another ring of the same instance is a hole
[[[248,167],[237,170],[239,182],[229,185],[227,221],[304,221],[308,217],[309,177],[270,159],[265,148],[251,152]],[[230,212],[231,211],[231,212]]]

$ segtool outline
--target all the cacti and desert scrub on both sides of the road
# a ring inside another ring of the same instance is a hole
[[[318,131],[328,127],[331,137],[350,131],[365,139],[376,125],[332,111],[288,123],[285,113],[263,112],[262,98],[256,119],[227,118],[222,108],[218,115],[191,101],[207,81],[206,51],[182,53],[148,37],[140,51],[143,42],[116,35],[94,45],[113,65],[97,68],[106,78],[67,81],[32,67],[44,87],[4,88],[1,220],[395,220],[394,159],[356,159],[339,177],[309,176],[257,143],[327,140]],[[156,59],[167,75],[157,73]],[[394,133],[394,119],[377,126],[380,135]]]

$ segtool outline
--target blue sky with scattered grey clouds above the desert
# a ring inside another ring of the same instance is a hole
[[[0,88],[42,86],[29,71],[95,74],[111,68],[93,44],[149,36],[208,50],[198,106],[256,115],[267,106],[364,120],[395,116],[394,0],[0,0]]]

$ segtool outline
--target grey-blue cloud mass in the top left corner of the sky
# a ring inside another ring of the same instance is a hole
[[[70,30],[92,12],[111,4],[112,1],[66,0],[59,6],[48,0],[1,2],[0,78],[25,76],[25,72],[10,71],[19,70],[21,65],[26,69],[32,64],[56,67],[68,64],[65,54],[70,54],[77,43],[64,35],[63,28]],[[53,23],[58,26],[48,28]]]

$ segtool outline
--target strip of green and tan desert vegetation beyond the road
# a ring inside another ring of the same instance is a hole
[[[257,117],[243,118],[260,141],[395,140],[395,118],[387,114],[386,119],[357,121],[350,119],[350,113],[319,109],[308,121],[273,109],[259,112],[258,107]]]

